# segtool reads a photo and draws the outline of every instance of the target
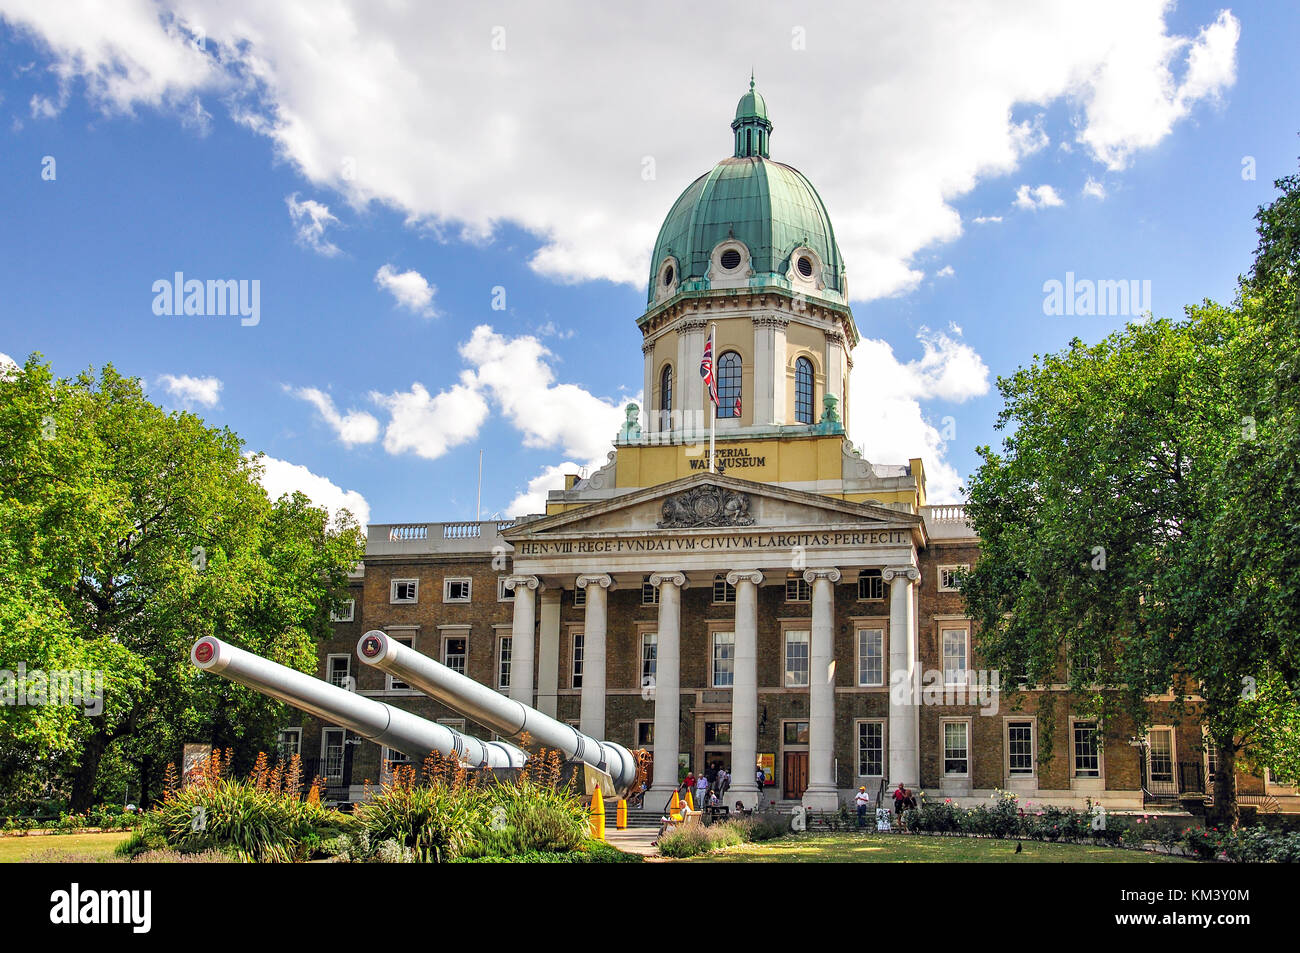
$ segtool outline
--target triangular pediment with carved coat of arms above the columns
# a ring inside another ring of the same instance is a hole
[[[692,473],[672,482],[529,520],[507,529],[507,541],[588,534],[693,532],[814,532],[826,528],[906,530],[924,534],[919,516],[876,503],[850,503],[725,473]]]

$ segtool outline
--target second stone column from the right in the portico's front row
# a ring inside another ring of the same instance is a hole
[[[809,645],[809,787],[803,806],[833,811],[840,806],[835,777],[835,584],[838,569],[807,569],[812,586],[812,632]]]

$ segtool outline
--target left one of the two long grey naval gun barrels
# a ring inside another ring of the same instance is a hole
[[[204,636],[190,650],[190,660],[205,672],[239,683],[316,718],[387,745],[417,762],[433,751],[455,755],[472,767],[523,767],[528,755],[502,741],[480,741],[410,711],[313,679],[277,662]]]

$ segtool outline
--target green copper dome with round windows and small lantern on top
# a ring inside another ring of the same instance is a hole
[[[734,155],[692,182],[659,229],[650,304],[670,293],[771,286],[844,304],[831,217],[798,169],[767,157],[772,124],[753,81],[732,130]]]

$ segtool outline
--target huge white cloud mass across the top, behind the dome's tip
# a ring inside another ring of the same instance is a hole
[[[1160,143],[1232,86],[1240,35],[1226,10],[1195,36],[1171,34],[1169,0],[916,0],[870,23],[840,0],[801,13],[816,53],[790,56],[781,30],[718,46],[750,12],[738,0],[655,9],[689,35],[576,0],[455,16],[363,0],[8,0],[4,16],[49,46],[52,103],[77,79],[108,113],[185,114],[203,95],[269,137],[313,187],[478,242],[508,222],[541,242],[541,273],[634,285],[673,199],[729,152],[758,56],[772,156],[818,186],[859,300],[922,281],[916,254],[961,234],[952,203],[1049,140],[1072,135],[1113,169]],[[209,52],[188,43],[196,30]],[[655,69],[634,68],[646,62]],[[594,75],[610,78],[601,95]],[[556,122],[558,103],[581,122]],[[1026,107],[1032,118],[1013,118]]]

